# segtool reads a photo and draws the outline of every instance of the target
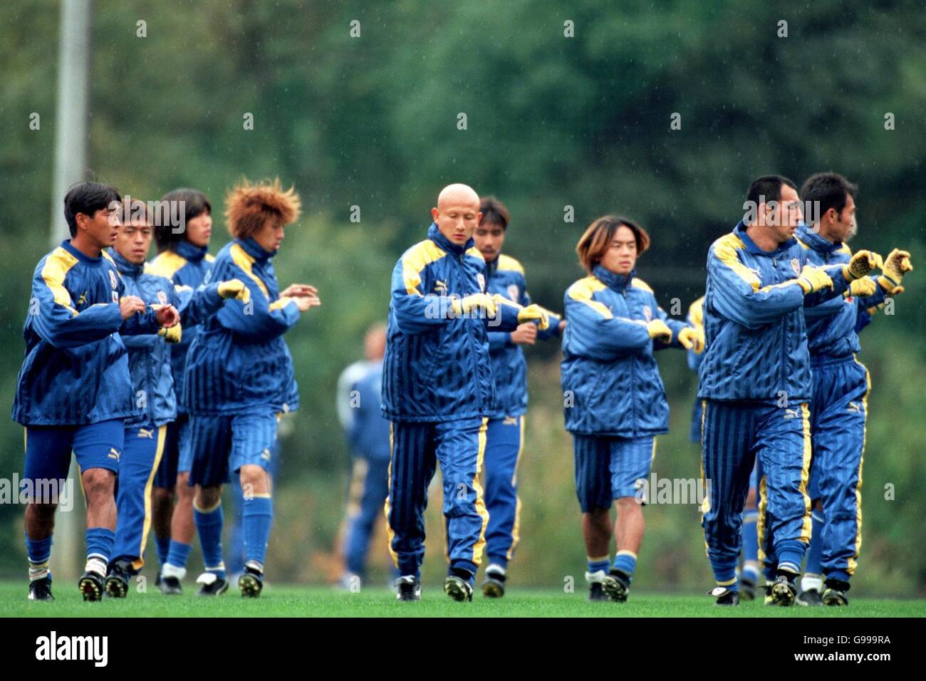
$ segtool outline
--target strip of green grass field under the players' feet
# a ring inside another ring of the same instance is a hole
[[[218,599],[198,599],[194,586],[181,597],[156,589],[131,592],[122,601],[84,603],[72,584],[56,584],[55,601],[26,600],[22,583],[0,583],[5,617],[926,617],[926,600],[853,599],[849,608],[767,608],[760,601],[739,608],[712,606],[708,596],[634,593],[625,604],[589,603],[585,594],[561,590],[514,590],[501,600],[476,594],[457,603],[439,584],[425,585],[419,603],[398,603],[385,588],[360,593],[318,586],[268,585],[260,599],[244,600],[236,589]]]

